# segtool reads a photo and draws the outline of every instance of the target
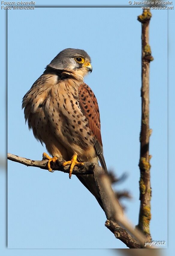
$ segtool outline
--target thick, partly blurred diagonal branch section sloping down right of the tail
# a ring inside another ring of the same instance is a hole
[[[115,237],[124,242],[129,248],[145,248],[146,236],[134,228],[125,216],[118,198],[115,197],[109,176],[94,168],[94,179],[100,192],[104,211],[107,217],[105,226],[114,233]]]

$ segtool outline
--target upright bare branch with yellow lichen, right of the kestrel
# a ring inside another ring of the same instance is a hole
[[[149,155],[149,63],[153,60],[151,56],[151,48],[149,46],[149,21],[151,12],[143,10],[143,14],[138,16],[138,20],[142,23],[142,115],[141,115],[141,131],[140,131],[140,212],[138,227],[151,240],[149,223],[151,220],[150,200],[150,158]]]

